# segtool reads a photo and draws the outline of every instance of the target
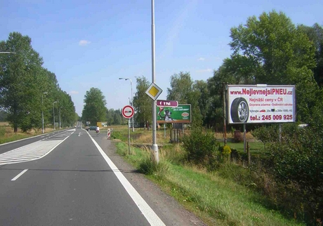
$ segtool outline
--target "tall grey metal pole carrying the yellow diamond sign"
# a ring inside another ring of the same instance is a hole
[[[155,83],[155,53],[154,53],[154,0],[152,0],[152,82]],[[159,163],[158,145],[156,138],[156,103],[152,100],[152,152],[154,161]]]

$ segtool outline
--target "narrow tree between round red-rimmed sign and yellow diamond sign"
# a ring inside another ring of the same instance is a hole
[[[145,93],[149,87],[149,82],[145,77],[136,78],[137,92],[133,97],[133,107],[136,112],[136,122],[145,124],[146,121],[152,121],[152,100]]]

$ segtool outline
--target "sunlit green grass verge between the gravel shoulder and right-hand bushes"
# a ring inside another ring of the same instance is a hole
[[[146,149],[132,147],[132,154],[128,155],[126,143],[116,142],[116,147],[117,153],[136,168],[147,157]],[[167,164],[166,173],[147,175],[147,178],[207,225],[301,225],[268,207],[267,199],[250,187],[223,178],[219,173],[206,173],[195,166],[172,164],[163,158],[163,154],[159,156],[161,162]]]

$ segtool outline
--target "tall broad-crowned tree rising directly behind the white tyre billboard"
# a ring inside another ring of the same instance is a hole
[[[284,13],[255,16],[231,29],[235,57],[253,61],[254,81],[261,84],[296,85],[297,117],[308,121],[316,105],[318,86],[313,77],[315,46]]]

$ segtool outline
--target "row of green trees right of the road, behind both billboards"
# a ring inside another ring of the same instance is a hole
[[[322,26],[296,26],[284,13],[272,11],[233,27],[230,36],[233,53],[223,60],[213,77],[193,81],[189,72],[171,76],[167,99],[192,105],[193,126],[223,128],[223,84],[296,85],[298,121],[308,122],[313,117],[313,109],[317,112],[323,109]],[[152,102],[145,94],[149,85],[145,77],[136,78],[133,107],[139,124],[152,121]],[[100,97],[99,108],[93,103],[91,93]],[[84,100],[84,121],[126,123],[120,110],[107,110],[105,98],[102,99],[102,92],[91,88]],[[89,113],[94,105],[100,109],[100,119],[94,117],[95,112]]]

